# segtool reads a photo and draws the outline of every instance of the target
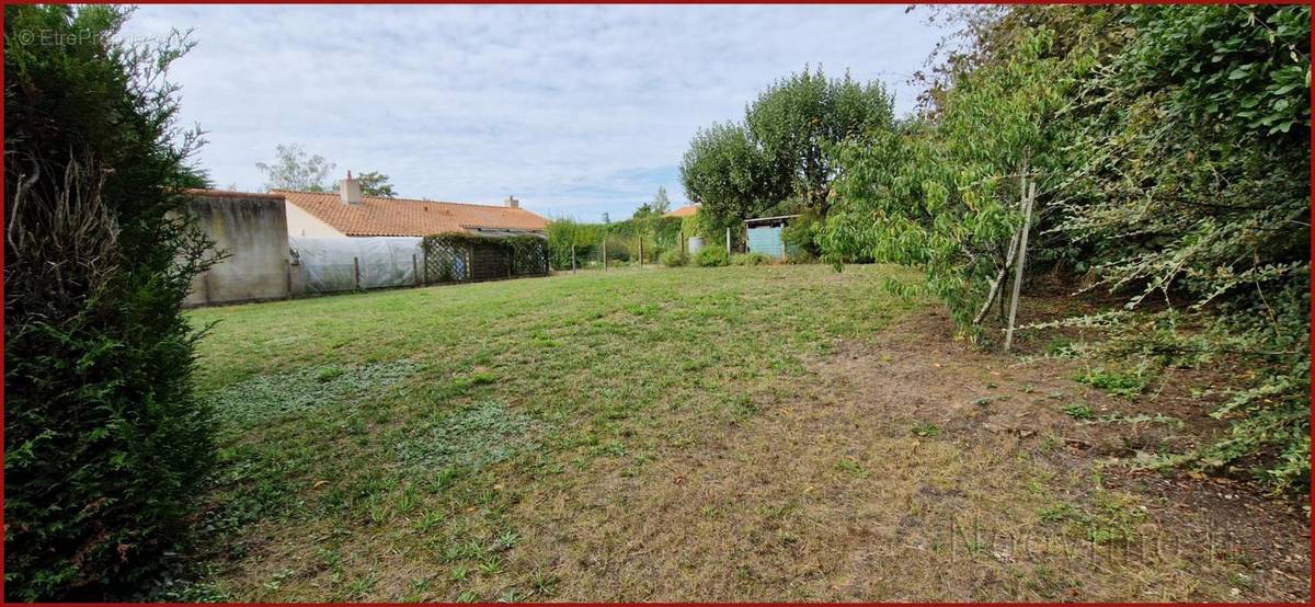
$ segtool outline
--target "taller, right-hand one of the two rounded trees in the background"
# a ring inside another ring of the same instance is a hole
[[[752,139],[789,177],[807,209],[826,217],[838,166],[832,147],[873,130],[888,130],[893,100],[880,81],[859,83],[846,72],[828,79],[805,66],[759,95],[744,116]]]

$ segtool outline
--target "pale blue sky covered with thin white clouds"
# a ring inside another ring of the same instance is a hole
[[[380,171],[401,197],[546,217],[630,217],[701,126],[739,121],[775,80],[821,64],[881,80],[911,112],[948,32],[868,7],[146,5],[125,37],[192,29],[176,62],[183,126],[216,187],[263,191],[258,162],[301,145],[331,179]]]

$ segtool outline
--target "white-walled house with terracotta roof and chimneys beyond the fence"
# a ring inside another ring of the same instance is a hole
[[[347,173],[333,192],[274,191],[287,201],[288,235],[427,236],[439,233],[489,235],[543,234],[548,219],[521,208],[514,197],[502,206],[433,200],[363,196],[360,181]]]

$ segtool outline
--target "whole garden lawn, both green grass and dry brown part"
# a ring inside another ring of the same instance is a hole
[[[1306,591],[1245,549],[1148,552],[1205,515],[1102,478],[1051,399],[1082,385],[910,325],[935,306],[888,277],[915,276],[630,269],[195,310],[221,461],[178,598]],[[989,430],[1015,418],[1044,423]]]

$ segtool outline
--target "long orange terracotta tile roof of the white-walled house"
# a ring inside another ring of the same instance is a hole
[[[337,193],[280,189],[274,193],[348,236],[427,236],[475,227],[543,230],[548,226],[543,217],[509,206],[373,196],[362,197],[359,205],[346,205]]]

